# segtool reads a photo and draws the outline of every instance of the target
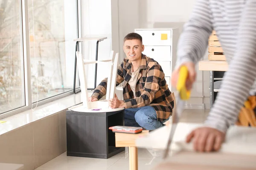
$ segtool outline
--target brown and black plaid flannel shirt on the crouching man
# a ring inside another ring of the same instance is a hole
[[[140,108],[151,106],[157,113],[157,119],[163,121],[172,115],[174,100],[166,84],[163,69],[154,59],[142,54],[140,73],[138,75],[134,97],[129,85],[132,63],[128,58],[118,66],[116,86],[123,82],[123,100],[125,108]],[[92,97],[98,100],[106,94],[107,81],[105,78],[94,90]]]

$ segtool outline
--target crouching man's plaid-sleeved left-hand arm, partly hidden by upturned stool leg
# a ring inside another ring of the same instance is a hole
[[[123,65],[124,65],[124,62],[122,62],[117,68],[116,86],[118,86],[120,83],[122,83],[124,81],[123,72],[122,72]],[[108,82],[108,78],[103,79],[99,83],[99,85],[96,87],[96,89],[93,91],[93,94],[91,97],[95,97],[99,100],[103,96],[105,96],[107,93],[107,82]]]

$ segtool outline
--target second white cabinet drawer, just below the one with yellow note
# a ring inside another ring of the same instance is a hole
[[[157,62],[171,61],[171,46],[145,46],[142,53]]]

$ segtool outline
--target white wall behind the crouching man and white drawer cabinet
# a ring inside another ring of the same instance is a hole
[[[135,28],[179,28],[189,20],[195,0],[119,0],[119,51],[123,38]],[[121,53],[121,52],[120,52]],[[125,55],[122,52],[122,57]],[[204,56],[207,59],[207,54]],[[188,108],[209,108],[209,72],[198,71]],[[191,104],[191,105],[190,105]]]

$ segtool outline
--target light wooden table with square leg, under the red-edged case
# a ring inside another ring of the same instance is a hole
[[[148,130],[142,133],[116,133],[116,147],[129,147],[129,168],[130,170],[138,170],[138,149],[136,147],[136,139],[148,134]]]

